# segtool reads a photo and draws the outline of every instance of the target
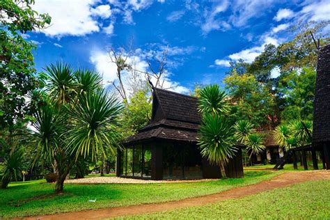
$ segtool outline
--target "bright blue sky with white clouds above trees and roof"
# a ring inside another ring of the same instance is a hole
[[[330,18],[330,0],[36,0],[33,8],[52,16],[52,26],[25,36],[38,45],[38,70],[65,61],[113,81],[109,47],[132,42],[129,61],[141,71],[167,49],[165,84],[180,93],[221,84],[229,61],[251,63],[266,43],[290,40],[299,20]]]

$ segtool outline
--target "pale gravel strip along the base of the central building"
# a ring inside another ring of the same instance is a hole
[[[96,177],[96,178],[82,178],[74,180],[65,180],[65,183],[81,183],[81,184],[94,184],[94,183],[129,183],[129,184],[148,184],[148,183],[178,183],[178,182],[207,182],[215,181],[214,179],[202,180],[139,180],[131,178],[117,178],[117,177]]]

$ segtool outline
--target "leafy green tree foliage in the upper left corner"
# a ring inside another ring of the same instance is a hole
[[[24,95],[38,87],[31,42],[20,33],[42,29],[50,24],[47,14],[31,9],[32,0],[1,0],[0,6],[0,128],[13,125],[26,116]],[[24,7],[21,4],[24,4]]]

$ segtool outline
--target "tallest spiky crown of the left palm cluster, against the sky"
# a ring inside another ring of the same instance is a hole
[[[67,63],[47,65],[45,71],[49,77],[49,96],[59,105],[66,104],[74,95],[73,70]]]

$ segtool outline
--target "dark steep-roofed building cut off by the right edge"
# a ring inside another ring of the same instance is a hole
[[[330,45],[322,47],[318,55],[313,148],[321,151],[325,168],[330,169]]]

